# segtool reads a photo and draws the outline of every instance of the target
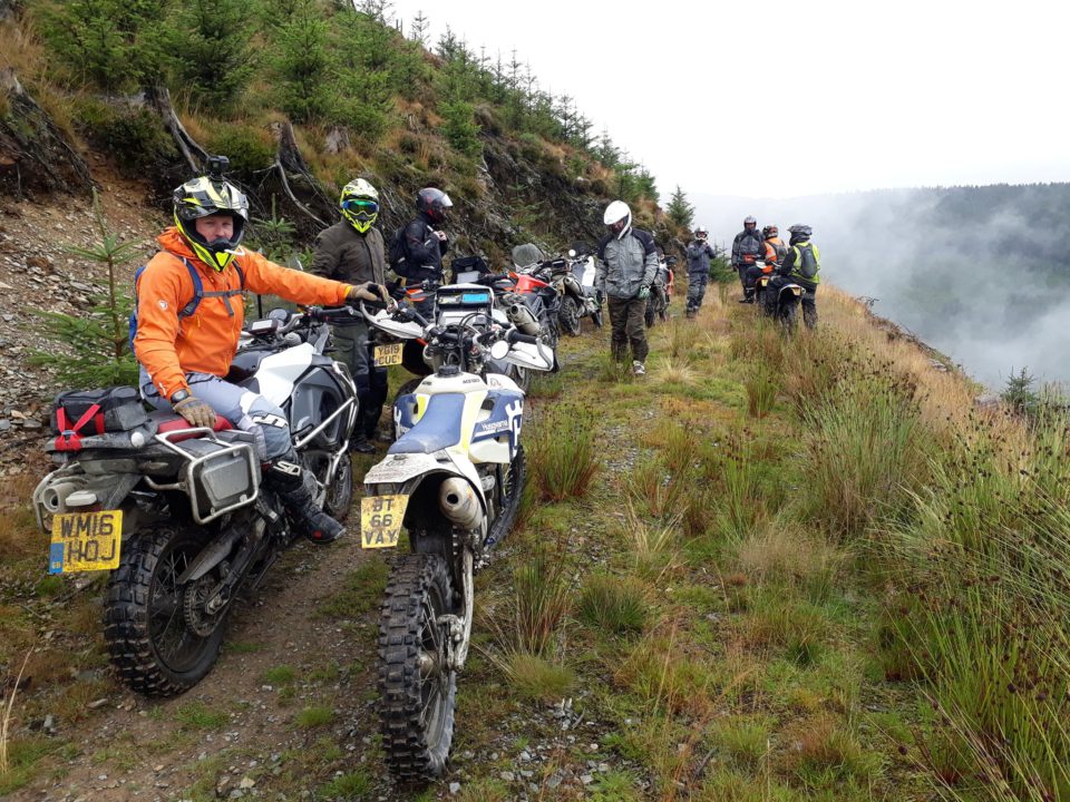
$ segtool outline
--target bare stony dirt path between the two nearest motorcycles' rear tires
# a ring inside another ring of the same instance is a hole
[[[117,685],[111,712],[61,733],[72,756],[56,757],[11,799],[230,798],[254,789],[299,798],[366,763],[370,776],[386,777],[370,749],[385,576],[357,538],[296,546],[240,600],[224,653],[200,685],[164,701]]]

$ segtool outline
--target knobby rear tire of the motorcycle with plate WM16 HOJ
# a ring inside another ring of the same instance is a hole
[[[183,594],[175,583],[205,541],[206,534],[195,527],[166,525],[143,529],[124,544],[108,583],[104,637],[111,664],[134,691],[181,694],[201,682],[218,657],[230,608],[208,635],[197,635],[183,615]]]

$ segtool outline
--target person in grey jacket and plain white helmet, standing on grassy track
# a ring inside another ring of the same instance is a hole
[[[632,372],[645,375],[643,362],[650,351],[645,326],[646,299],[658,274],[654,237],[649,232],[632,228],[632,211],[623,200],[606,206],[603,222],[610,233],[599,243],[595,287],[599,303],[609,300],[613,359],[623,361],[631,343]]]

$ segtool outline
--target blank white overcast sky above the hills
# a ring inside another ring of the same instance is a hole
[[[1066,0],[397,0],[516,48],[662,200],[1070,180]]]

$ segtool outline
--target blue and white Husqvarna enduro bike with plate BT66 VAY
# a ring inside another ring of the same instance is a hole
[[[471,285],[466,302],[492,302]],[[489,309],[489,307],[487,307]],[[435,372],[393,409],[396,442],[364,477],[361,546],[399,556],[379,619],[382,746],[391,773],[420,784],[446,771],[457,672],[468,655],[473,571],[508,532],[524,486],[524,392],[488,364],[549,371],[553,352],[473,311],[424,330]],[[410,319],[411,311],[393,313]],[[376,317],[383,323],[390,313]],[[398,322],[402,322],[398,321]]]

